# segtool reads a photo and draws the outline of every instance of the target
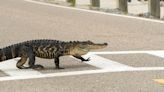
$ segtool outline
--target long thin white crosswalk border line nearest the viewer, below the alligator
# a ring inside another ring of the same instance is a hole
[[[135,72],[135,71],[155,71],[155,70],[164,70],[164,67],[139,67],[139,68],[127,69],[127,70],[100,69],[100,70],[50,73],[50,74],[42,74],[42,75],[26,75],[26,76],[11,76],[11,77],[9,76],[9,77],[0,77],[0,81],[50,78],[50,77],[60,77],[60,76],[75,76],[75,75],[99,74],[99,73],[109,73],[109,72]]]

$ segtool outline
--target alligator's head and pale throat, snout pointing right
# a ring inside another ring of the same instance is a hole
[[[93,43],[91,41],[72,42],[73,46],[70,49],[70,55],[84,55],[89,51],[102,49],[107,47],[107,43]]]

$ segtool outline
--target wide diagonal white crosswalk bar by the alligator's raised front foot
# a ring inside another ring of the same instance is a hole
[[[95,67],[101,68],[101,69],[108,69],[108,70],[127,70],[127,69],[133,69],[133,67],[130,67],[125,64],[121,64],[97,55],[91,55],[87,54],[84,57],[88,58],[90,57],[89,62],[85,62],[87,64],[93,65]]]

